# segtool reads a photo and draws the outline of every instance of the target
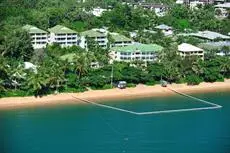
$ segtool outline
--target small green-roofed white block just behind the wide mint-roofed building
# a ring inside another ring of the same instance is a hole
[[[124,47],[133,44],[133,41],[124,35],[118,33],[109,33],[109,34],[113,41],[110,47]]]

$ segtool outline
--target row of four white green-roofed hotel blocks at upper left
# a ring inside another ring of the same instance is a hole
[[[87,39],[92,39],[101,48],[107,47],[124,47],[132,45],[133,41],[121,34],[110,33],[105,29],[91,29],[77,34],[76,31],[62,25],[56,25],[47,31],[41,30],[35,26],[25,25],[24,30],[28,31],[34,49],[45,48],[47,44],[59,44],[61,47],[71,47],[73,45],[87,49]],[[108,45],[110,34],[112,44]]]

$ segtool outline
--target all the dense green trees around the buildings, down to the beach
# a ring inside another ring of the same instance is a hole
[[[82,10],[92,6],[112,9],[101,17],[95,17]],[[223,81],[230,77],[229,57],[217,57],[207,52],[204,61],[194,57],[181,59],[176,54],[176,45],[181,42],[199,43],[199,40],[185,37],[164,37],[163,34],[144,34],[143,29],[152,29],[165,23],[176,28],[176,33],[185,29],[214,30],[221,33],[230,31],[229,19],[217,20],[212,6],[190,10],[185,6],[173,6],[164,17],[143,8],[133,9],[121,5],[119,1],[88,1],[85,4],[76,0],[27,0],[0,2],[0,97],[1,96],[40,96],[56,92],[78,92],[87,88],[107,89],[113,82],[124,80],[129,86],[143,83],[159,83],[161,77],[168,82],[196,85],[202,81]],[[103,50],[94,42],[88,42],[89,51],[79,47],[61,48],[47,46],[34,51],[29,35],[20,30],[24,24],[32,24],[47,29],[63,24],[77,31],[93,27],[109,27],[128,35],[128,31],[139,30],[136,41],[157,43],[165,49],[159,61],[145,63],[109,64],[108,50]],[[91,45],[90,45],[91,43]],[[226,54],[229,48],[226,48]],[[36,69],[24,69],[23,62],[30,61]],[[99,68],[92,68],[92,63]],[[135,65],[135,66],[133,66]]]

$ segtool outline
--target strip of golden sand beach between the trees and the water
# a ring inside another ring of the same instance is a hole
[[[224,82],[201,83],[196,86],[188,86],[186,84],[171,84],[168,87],[187,94],[192,93],[210,93],[230,91],[230,79]],[[47,95],[42,98],[35,97],[7,97],[0,98],[0,110],[12,110],[28,107],[44,107],[55,105],[76,105],[85,104],[72,96],[93,100],[93,101],[109,101],[121,99],[137,99],[147,97],[163,97],[173,96],[175,93],[161,85],[145,86],[137,85],[135,88],[126,89],[107,89],[107,90],[91,90],[83,93],[60,93],[57,95]]]

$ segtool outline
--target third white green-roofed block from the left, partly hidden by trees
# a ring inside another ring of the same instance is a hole
[[[94,40],[100,47],[107,48],[107,31],[104,29],[92,29],[81,33],[80,47],[87,48],[87,39]]]

